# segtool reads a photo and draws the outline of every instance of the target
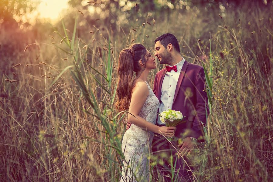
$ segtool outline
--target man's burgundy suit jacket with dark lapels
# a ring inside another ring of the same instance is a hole
[[[161,87],[166,74],[166,68],[155,75],[154,93],[161,102]],[[176,126],[174,138],[192,136],[199,142],[204,141],[203,126],[206,125],[206,110],[209,113],[205,86],[205,73],[202,66],[184,62],[180,72],[172,103],[172,110],[181,111],[185,123]],[[207,107],[207,108],[206,108]]]

